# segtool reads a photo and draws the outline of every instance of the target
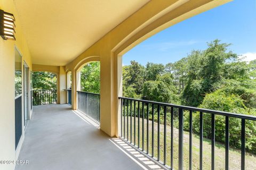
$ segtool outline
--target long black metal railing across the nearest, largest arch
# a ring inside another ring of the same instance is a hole
[[[189,114],[189,163],[188,169],[193,167],[193,114],[199,114],[199,169],[203,169],[203,116],[211,115],[211,169],[214,169],[215,147],[215,115],[226,117],[225,125],[225,169],[229,168],[229,118],[241,119],[241,169],[245,169],[245,123],[256,121],[255,116],[213,111],[189,106],[158,103],[154,101],[118,97],[121,99],[121,138],[139,148],[148,156],[156,159],[162,165],[173,169],[173,119],[178,116],[178,168],[183,169],[183,130],[184,112]],[[154,120],[154,121],[150,121]],[[155,125],[156,124],[156,125]],[[167,125],[170,129],[167,129]],[[157,127],[154,127],[157,126]],[[150,130],[151,131],[150,131]],[[170,131],[169,136],[166,131]],[[151,133],[151,134],[150,134]],[[142,137],[141,137],[142,135]],[[163,138],[160,139],[160,135]],[[150,136],[150,137],[149,137]],[[170,138],[170,146],[166,147],[166,139]],[[162,140],[162,141],[160,141]],[[156,143],[156,145],[155,145]],[[156,150],[156,151],[155,151]],[[167,152],[170,153],[170,165],[167,165]]]

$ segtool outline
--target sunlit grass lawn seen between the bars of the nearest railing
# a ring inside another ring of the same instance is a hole
[[[124,119],[123,119],[124,120]],[[131,124],[130,118],[129,122],[129,141],[134,143],[134,118],[132,117],[132,134],[131,134]],[[124,122],[122,122],[124,125]],[[144,120],[145,131],[144,131],[144,150],[147,151],[147,121]],[[127,127],[127,117],[125,121],[125,126]],[[135,144],[138,145],[138,118],[135,118]],[[164,160],[164,125],[160,125],[159,133],[159,158],[161,162]],[[124,129],[123,129],[124,130]],[[127,132],[127,130],[126,130]],[[140,148],[142,148],[142,118],[140,118]],[[124,135],[124,133],[123,133]],[[127,138],[127,133],[125,133],[125,138]],[[173,165],[174,169],[178,169],[179,163],[179,129],[173,128]],[[199,169],[199,137],[196,134],[193,134],[193,145],[192,145],[192,166],[193,169]],[[152,121],[149,121],[149,154],[152,155]],[[215,169],[225,169],[225,145],[219,142],[215,142]],[[157,155],[157,123],[154,123],[154,157]],[[256,156],[246,153],[245,156],[245,168],[246,169],[256,169]],[[171,164],[171,127],[167,126],[166,128],[166,165],[170,166]],[[183,168],[188,169],[189,167],[189,133],[183,132]],[[211,139],[203,139],[203,169],[211,169]],[[241,151],[235,148],[229,149],[229,169],[241,169]]]

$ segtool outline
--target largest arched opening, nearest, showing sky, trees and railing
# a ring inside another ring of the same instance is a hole
[[[232,120],[233,126],[226,128],[229,118],[220,114],[256,113],[255,103],[252,105],[251,99],[245,97],[250,93],[255,99],[256,89],[255,85],[252,85],[255,84],[255,80],[251,77],[252,74],[255,75],[256,57],[251,46],[255,46],[252,38],[255,37],[255,32],[247,30],[243,25],[246,23],[256,28],[254,22],[251,24],[250,16],[255,13],[250,8],[251,5],[251,2],[231,2],[159,32],[124,55],[120,53],[124,61],[123,83],[120,89],[122,92],[119,92],[119,95],[124,96],[121,98],[122,116],[119,117],[119,134],[122,138],[175,169],[180,166],[175,160],[181,157],[177,148],[181,142],[186,156],[192,152],[196,155],[193,160],[186,157],[186,163],[181,162],[185,169],[189,166],[198,169],[199,166],[211,168],[210,164],[200,165],[203,158],[199,155],[207,155],[202,146],[212,148],[210,152],[218,153],[212,156],[215,160],[211,157],[204,158],[206,162],[213,161],[215,168],[225,168],[225,159],[222,158],[225,158],[225,154],[228,155],[228,151],[224,151],[229,147],[225,145],[227,140],[230,141],[230,146],[235,148],[232,156],[237,155],[235,159],[240,160],[239,151],[243,148],[240,141],[243,142],[245,138],[241,139],[240,135],[229,137],[228,130],[236,134],[241,133],[241,128],[237,128],[241,127],[241,120]],[[250,9],[243,13],[243,16],[238,16],[234,8],[241,6]],[[234,16],[237,16],[236,20]],[[241,32],[248,34],[236,36]],[[245,41],[248,42],[246,47]],[[243,59],[246,55],[247,61]],[[131,58],[127,60],[126,57]],[[243,89],[243,92],[238,89]],[[195,108],[189,109],[181,105]],[[205,110],[197,112],[198,108],[220,112],[216,114],[218,116],[215,119],[215,114]],[[183,138],[187,141],[183,142]],[[199,140],[192,141],[191,138]],[[207,143],[207,140],[212,143]],[[214,150],[212,145],[215,141],[220,142],[219,149],[223,152]],[[196,145],[201,151],[192,148]],[[171,149],[165,150],[162,146]],[[255,154],[256,151],[248,147],[246,150],[251,154]],[[253,157],[254,155],[250,159]],[[247,165],[251,164],[249,159],[246,161]],[[229,163],[231,167],[239,167],[241,164],[239,161]]]

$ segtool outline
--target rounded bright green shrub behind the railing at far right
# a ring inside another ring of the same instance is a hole
[[[201,108],[209,108],[213,110],[256,115],[256,109],[248,109],[238,95],[227,94],[221,90],[217,90],[212,94],[207,94]],[[199,134],[199,113],[193,113],[193,131]],[[184,120],[185,130],[189,130],[189,114],[185,112]],[[205,138],[211,139],[211,114],[203,113],[203,135]],[[225,143],[225,116],[215,115],[215,140]],[[256,121],[246,121],[246,150],[256,154]],[[241,148],[241,119],[229,117],[229,144],[235,148]]]

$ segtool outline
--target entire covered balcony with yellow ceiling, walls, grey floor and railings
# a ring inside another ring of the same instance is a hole
[[[239,167],[244,169],[246,119],[255,120],[255,117],[118,98],[122,96],[122,55],[155,33],[228,2],[230,0],[98,3],[0,0],[1,12],[6,11],[15,22],[11,25],[15,25],[11,32],[13,40],[0,41],[3,96],[0,99],[0,137],[4,139],[0,140],[0,160],[11,162],[0,164],[0,169],[170,169],[176,167],[173,164],[183,169],[182,116],[178,119],[178,133],[175,133],[179,135],[172,136],[179,140],[177,159],[169,159],[171,155],[166,154],[172,149],[156,140],[161,136],[159,129],[167,131],[165,113],[171,113],[168,110],[171,108],[178,108],[179,115],[187,110],[202,112],[202,117],[210,112],[240,118],[242,164]],[[85,95],[79,87],[81,68],[93,61],[100,62],[100,96]],[[33,92],[31,72],[41,71],[56,75],[57,89]],[[42,95],[53,96],[41,100]],[[144,106],[155,107],[147,112],[155,113],[156,117],[161,111],[164,126],[159,124],[159,118],[150,124],[149,118],[143,117]],[[168,112],[164,111],[165,107]],[[133,125],[129,123],[134,120]],[[202,118],[200,123],[202,145]],[[156,144],[155,151],[155,146],[152,151],[147,147],[146,131],[135,133],[147,125],[158,129],[155,133],[151,131],[153,138],[157,135],[151,140]],[[166,139],[165,132],[163,134]],[[131,136],[134,136],[133,141]],[[203,169],[201,145],[198,165]],[[159,154],[162,151],[163,157]],[[29,160],[29,164],[15,164],[17,160]],[[191,162],[190,158],[188,160]]]

